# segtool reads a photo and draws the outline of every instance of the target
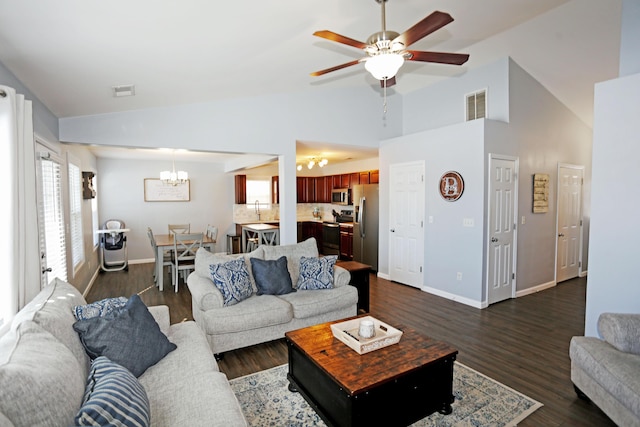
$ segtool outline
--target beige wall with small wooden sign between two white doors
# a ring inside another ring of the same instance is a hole
[[[591,130],[571,110],[514,61],[509,61],[511,122],[492,126],[487,153],[520,160],[518,187],[518,260],[516,289],[522,292],[555,284],[558,164],[584,166],[582,271],[588,268],[591,205]],[[549,212],[532,213],[532,177],[551,178]],[[522,217],[525,224],[522,224]]]

